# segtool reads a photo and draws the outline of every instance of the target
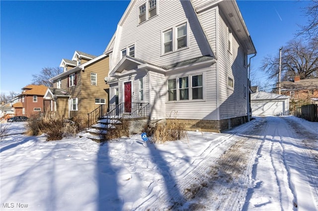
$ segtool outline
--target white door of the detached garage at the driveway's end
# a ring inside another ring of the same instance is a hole
[[[252,115],[284,115],[285,113],[285,102],[276,101],[276,102],[255,102],[251,103]]]

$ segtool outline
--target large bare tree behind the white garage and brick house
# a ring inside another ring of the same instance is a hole
[[[278,51],[275,56],[264,57],[261,69],[271,78],[278,79]],[[283,81],[292,80],[296,75],[301,79],[318,77],[318,38],[311,38],[307,43],[302,39],[289,41],[282,50],[281,70]]]

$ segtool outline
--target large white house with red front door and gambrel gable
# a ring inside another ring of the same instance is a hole
[[[216,132],[247,121],[256,50],[236,1],[131,0],[104,53],[118,112]]]

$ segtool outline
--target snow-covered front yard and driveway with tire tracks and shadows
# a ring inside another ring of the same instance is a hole
[[[318,210],[318,122],[256,117],[162,145],[47,142],[4,124],[0,210]]]

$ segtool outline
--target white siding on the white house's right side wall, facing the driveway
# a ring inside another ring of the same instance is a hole
[[[220,119],[247,115],[247,98],[242,88],[248,87],[247,68],[244,67],[244,53],[232,31],[229,53],[229,28],[221,14],[219,20],[219,113]]]

